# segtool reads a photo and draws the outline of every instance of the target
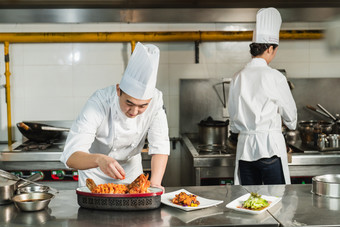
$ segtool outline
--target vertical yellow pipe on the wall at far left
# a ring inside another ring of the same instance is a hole
[[[5,77],[6,77],[6,102],[7,102],[7,133],[8,146],[12,145],[12,118],[11,118],[11,90],[10,90],[10,71],[9,71],[9,42],[5,42]]]

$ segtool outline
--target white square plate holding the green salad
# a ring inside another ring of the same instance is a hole
[[[269,208],[273,207],[275,204],[277,204],[281,200],[281,197],[262,195],[261,198],[270,202],[270,205],[267,206],[266,208],[264,208],[262,210],[248,210],[248,209],[241,208],[243,202],[246,201],[249,198],[249,196],[250,196],[250,193],[245,194],[245,195],[235,199],[234,201],[228,203],[226,205],[226,207],[229,208],[229,209],[233,209],[233,210],[237,210],[237,211],[241,211],[241,212],[245,212],[245,213],[261,214],[261,213],[265,212],[266,210],[268,210]]]

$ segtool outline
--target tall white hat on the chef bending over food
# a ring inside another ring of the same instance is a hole
[[[158,47],[138,42],[119,87],[135,99],[152,98],[156,89],[158,63]]]

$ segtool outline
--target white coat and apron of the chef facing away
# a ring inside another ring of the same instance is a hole
[[[239,133],[235,184],[240,184],[239,160],[274,155],[281,158],[286,184],[290,184],[282,121],[295,129],[297,110],[285,76],[269,67],[265,59],[253,58],[232,79],[228,99],[230,130]]]

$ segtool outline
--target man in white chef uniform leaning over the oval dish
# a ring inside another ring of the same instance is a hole
[[[96,91],[74,121],[60,160],[79,170],[79,186],[87,178],[131,183],[143,173],[147,138],[151,186],[163,188],[170,142],[162,92],[156,89],[158,63],[156,46],[137,43],[120,84]]]

